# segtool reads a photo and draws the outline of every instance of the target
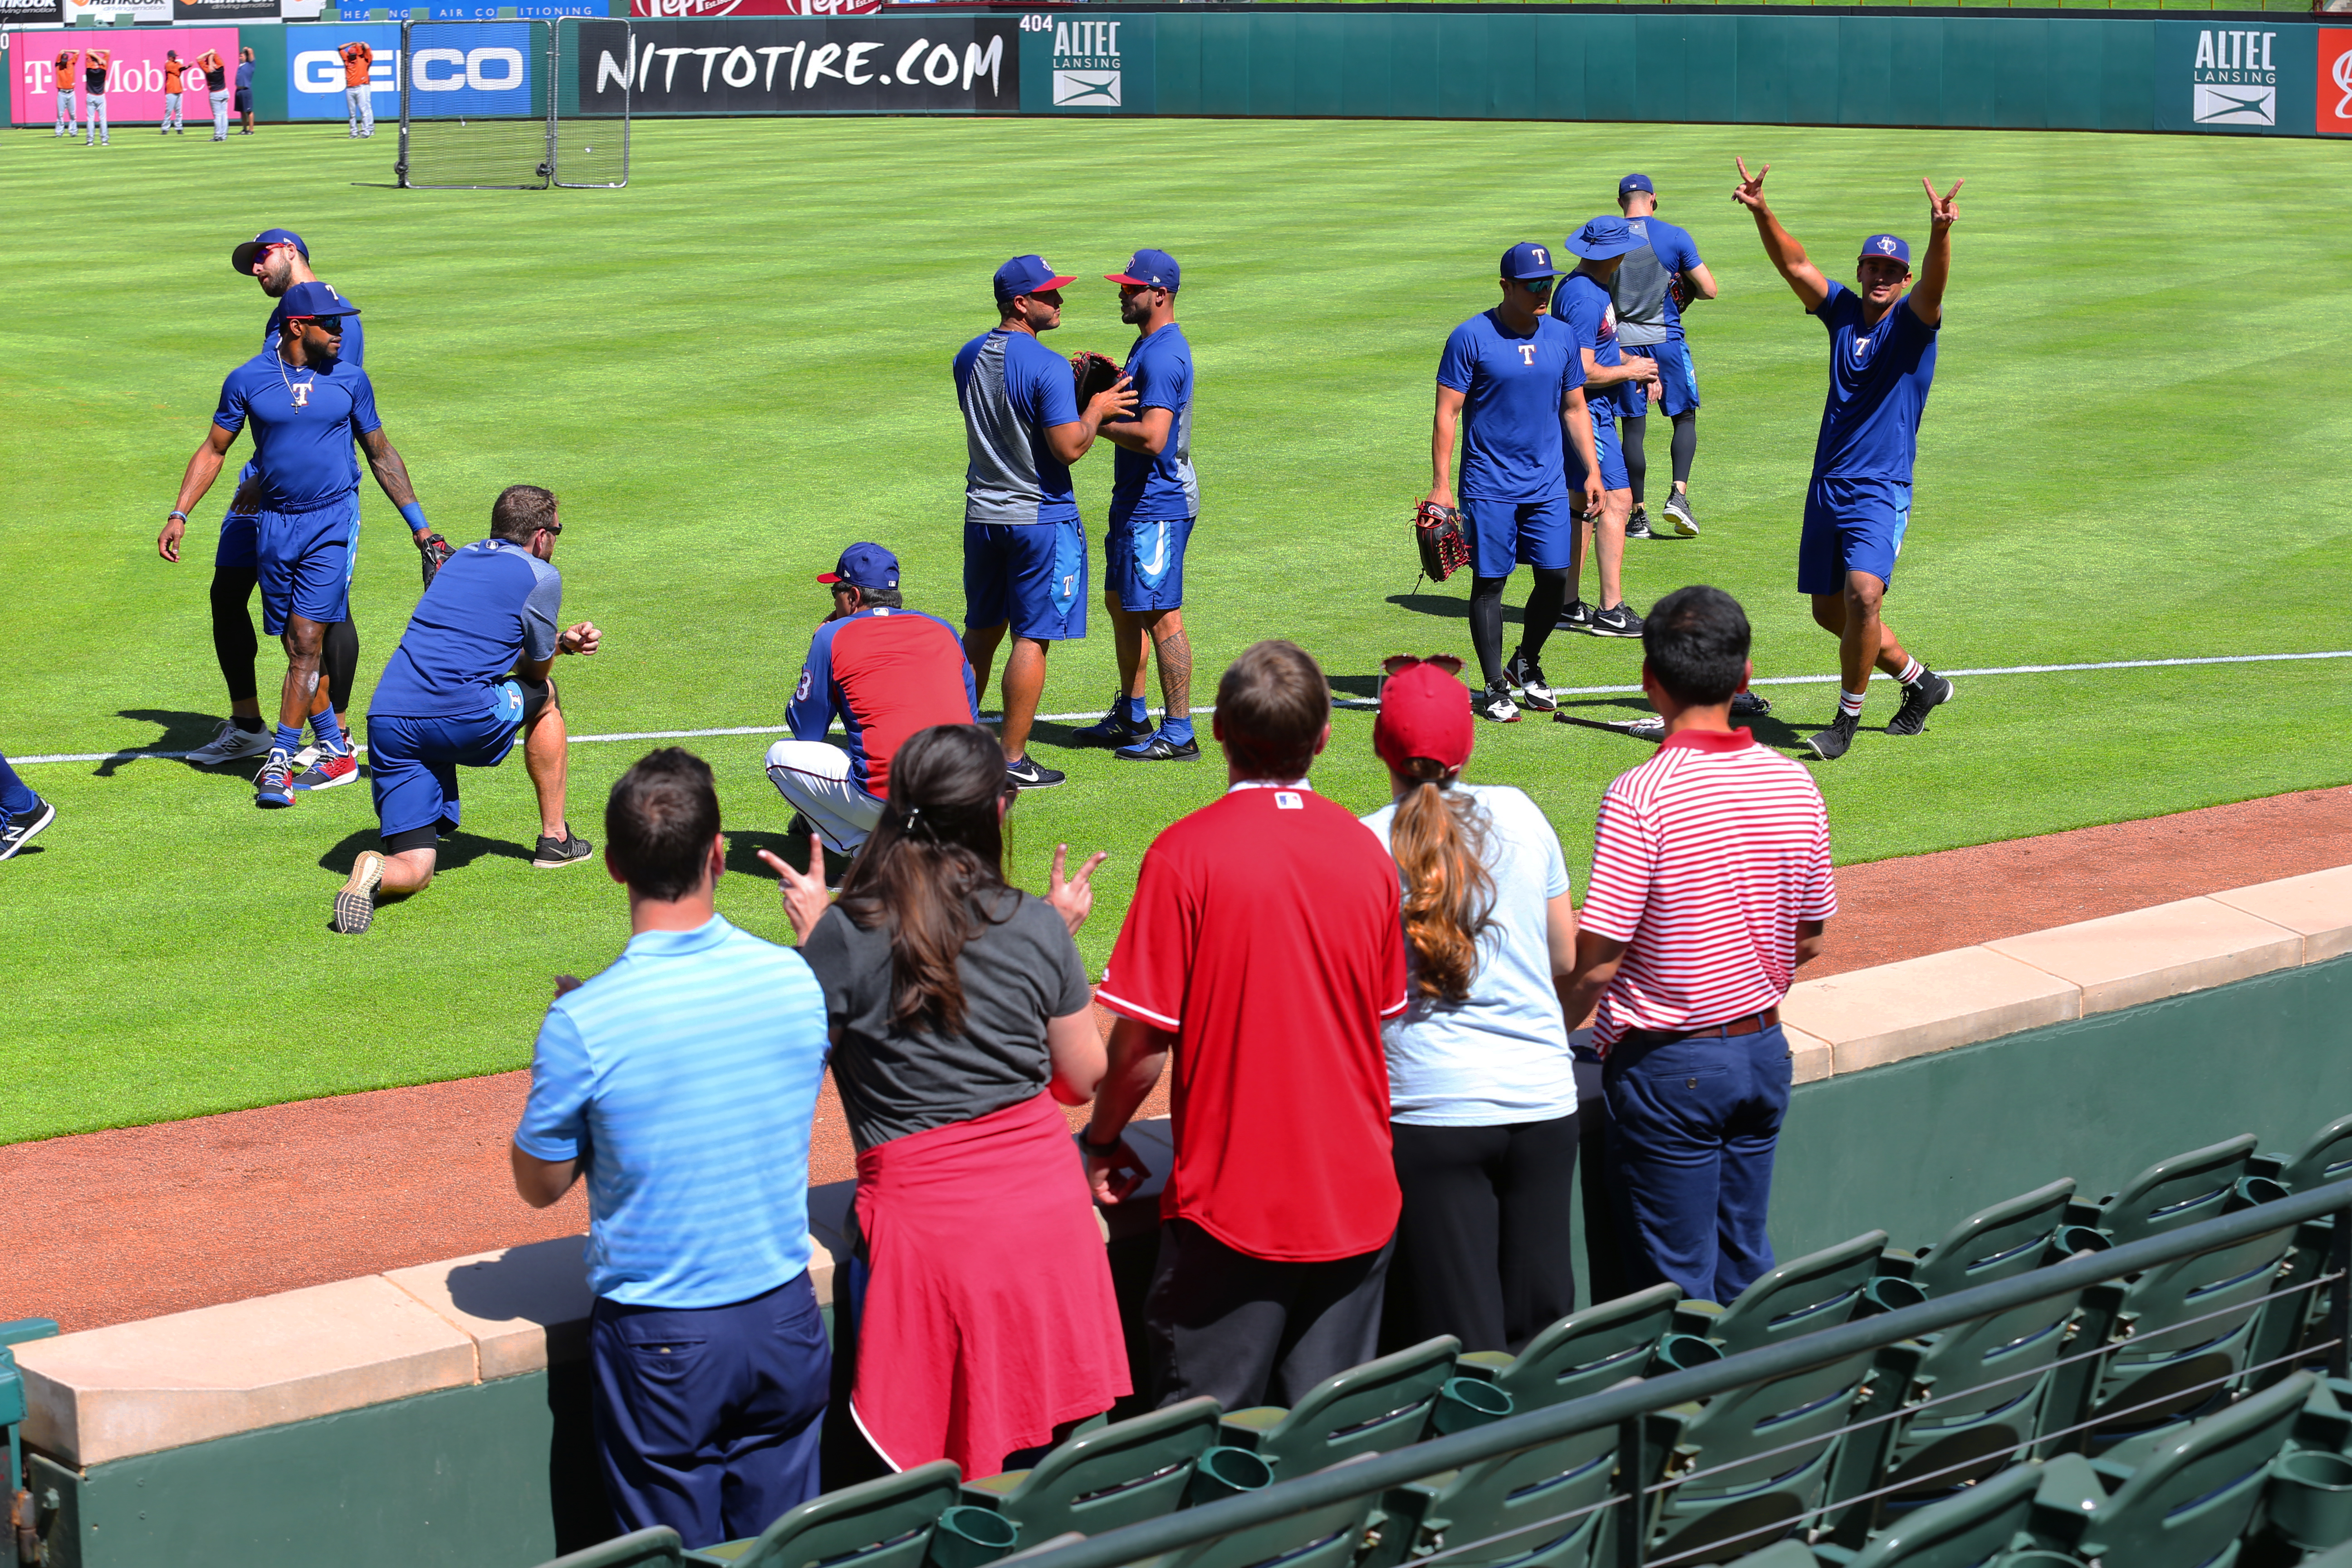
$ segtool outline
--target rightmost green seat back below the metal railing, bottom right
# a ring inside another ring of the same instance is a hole
[[[2199,1568],[2223,1556],[2251,1523],[2270,1462],[2314,1385],[2317,1378],[2298,1373],[2183,1427],[2089,1514],[2074,1554],[2131,1568]]]

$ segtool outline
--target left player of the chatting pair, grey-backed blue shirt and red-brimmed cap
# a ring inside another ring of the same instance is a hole
[[[1028,755],[1044,696],[1044,656],[1087,635],[1087,531],[1070,463],[1087,456],[1105,418],[1136,407],[1127,376],[1080,409],[1070,362],[1037,341],[1061,327],[1061,292],[1077,282],[1042,256],[997,268],[997,324],[955,355],[964,409],[964,656],[988,686],[1004,632],[1004,778],[1018,790],[1065,773]]]

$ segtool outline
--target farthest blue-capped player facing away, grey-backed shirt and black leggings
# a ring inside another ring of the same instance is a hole
[[[1651,407],[1675,423],[1675,489],[1658,508],[1663,527],[1682,538],[1698,538],[1689,494],[1691,458],[1698,456],[1698,371],[1691,369],[1691,346],[1682,336],[1682,308],[1693,299],[1715,299],[1715,273],[1698,259],[1691,230],[1658,216],[1658,186],[1649,174],[1628,174],[1618,181],[1618,212],[1625,214],[1625,228],[1646,240],[1644,247],[1625,252],[1616,277],[1609,280],[1609,299],[1618,313],[1618,348],[1658,362],[1649,397],[1630,402],[1618,414],[1625,475],[1632,480],[1625,538],[1651,536],[1649,512],[1642,505],[1642,484],[1649,477],[1642,433]]]

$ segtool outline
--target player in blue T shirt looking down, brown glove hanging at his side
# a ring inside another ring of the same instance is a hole
[[[1430,418],[1430,505],[1454,505],[1454,430],[1463,435],[1463,520],[1470,529],[1470,646],[1486,689],[1475,710],[1496,724],[1519,719],[1512,686],[1536,710],[1559,708],[1543,679],[1543,644],[1569,597],[1581,550],[1576,505],[1602,503],[1597,421],[1585,411],[1585,357],[1576,334],[1548,315],[1559,268],[1543,244],[1519,242],[1498,268],[1503,303],[1446,336],[1437,360]],[[1578,470],[1581,496],[1569,494]],[[1519,649],[1503,663],[1503,583],[1517,564],[1536,574]]]

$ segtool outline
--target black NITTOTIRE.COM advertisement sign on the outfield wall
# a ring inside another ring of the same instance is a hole
[[[630,24],[628,56],[581,49],[581,113],[1009,115],[1021,110],[1011,16],[842,16]]]

